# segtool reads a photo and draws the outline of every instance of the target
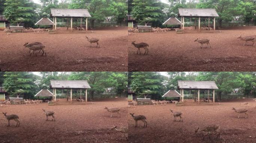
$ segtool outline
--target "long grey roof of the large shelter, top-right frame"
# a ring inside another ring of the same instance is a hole
[[[179,8],[179,16],[219,17],[215,9],[187,9],[187,8]]]

